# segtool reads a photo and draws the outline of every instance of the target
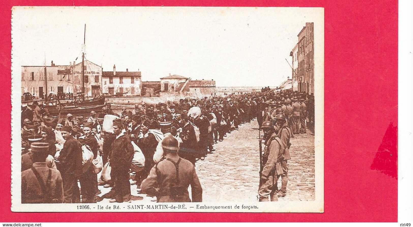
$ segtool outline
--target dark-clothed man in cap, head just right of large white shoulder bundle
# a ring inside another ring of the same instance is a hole
[[[129,183],[129,169],[133,159],[133,146],[131,140],[122,132],[123,124],[120,119],[113,120],[116,139],[112,144],[112,153],[109,154],[112,166],[111,176],[114,177],[115,196],[109,202],[131,202],[131,185]]]

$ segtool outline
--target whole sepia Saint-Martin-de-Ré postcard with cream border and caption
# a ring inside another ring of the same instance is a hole
[[[12,9],[14,212],[321,213],[323,112],[323,8]]]

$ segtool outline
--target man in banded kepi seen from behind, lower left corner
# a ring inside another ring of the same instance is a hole
[[[32,143],[33,167],[21,172],[21,203],[45,204],[63,202],[60,172],[46,164],[47,143]]]

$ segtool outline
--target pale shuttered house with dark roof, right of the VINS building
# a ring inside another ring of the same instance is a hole
[[[102,93],[103,94],[124,94],[124,96],[140,96],[142,93],[142,78],[141,73],[116,71],[116,66],[113,66],[113,71],[102,72]]]

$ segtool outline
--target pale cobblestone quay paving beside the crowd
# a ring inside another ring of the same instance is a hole
[[[258,123],[242,124],[239,130],[228,133],[222,142],[214,145],[216,151],[205,160],[196,163],[196,170],[203,189],[204,202],[257,201],[259,184]],[[295,135],[291,139],[291,160],[288,162],[289,182],[287,196],[280,201],[314,200],[314,135]],[[99,176],[100,177],[100,176]],[[281,178],[278,180],[281,185]],[[103,194],[110,188],[99,186]],[[150,202],[156,197],[138,194],[136,185],[131,185],[132,203]],[[190,189],[189,189],[190,192]],[[109,199],[101,202],[107,203]]]

